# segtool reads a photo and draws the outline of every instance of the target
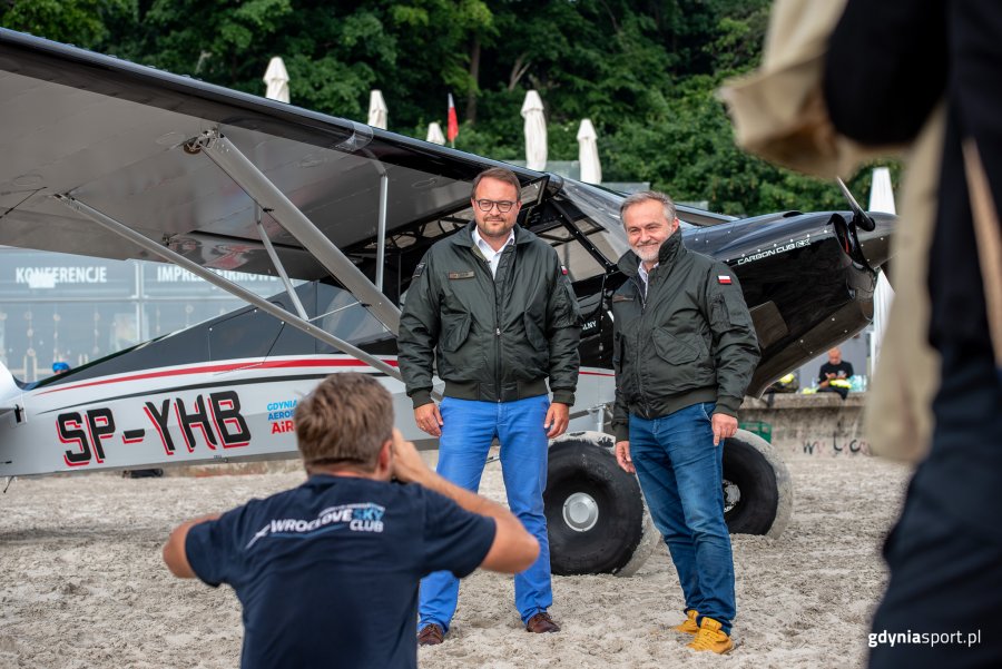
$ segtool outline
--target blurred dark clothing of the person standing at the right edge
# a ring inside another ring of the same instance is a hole
[[[849,139],[908,142],[945,108],[922,286],[941,358],[934,429],[884,547],[872,629],[897,642],[876,643],[871,667],[1002,666],[1000,77],[998,0],[849,0],[828,41],[825,102]],[[922,640],[946,632],[960,634]]]

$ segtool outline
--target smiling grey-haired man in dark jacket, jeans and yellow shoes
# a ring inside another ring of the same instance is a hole
[[[724,521],[724,441],[758,363],[737,277],[682,243],[675,204],[652,190],[620,206],[630,249],[612,295],[616,459],[636,472],[685,597],[688,647],[734,643],[734,558]]]

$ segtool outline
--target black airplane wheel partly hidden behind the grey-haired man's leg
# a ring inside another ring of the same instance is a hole
[[[731,534],[778,537],[793,510],[793,484],[767,441],[745,430],[724,442],[724,520]]]

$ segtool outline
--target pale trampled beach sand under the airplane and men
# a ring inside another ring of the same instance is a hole
[[[884,535],[908,471],[871,458],[788,461],[796,494],[778,539],[734,537],[738,647],[692,653],[667,628],[680,592],[659,547],[632,578],[554,577],[558,634],[524,632],[510,577],[463,582],[445,643],[423,668],[859,667],[886,571]],[[112,474],[17,480],[0,495],[0,667],[236,667],[239,604],[173,578],[170,529],[194,515],[297,484],[298,473],[128,480]],[[503,499],[498,465],[484,492]]]

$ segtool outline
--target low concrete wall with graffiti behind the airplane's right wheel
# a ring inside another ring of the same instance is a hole
[[[784,455],[870,455],[863,434],[865,402],[866,393],[849,393],[845,400],[837,393],[766,394],[762,400],[745,397],[738,420],[746,429],[749,423],[767,424],[773,446]]]

